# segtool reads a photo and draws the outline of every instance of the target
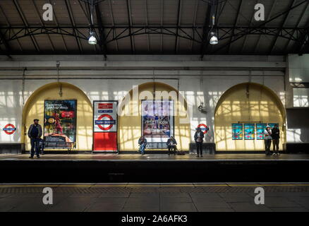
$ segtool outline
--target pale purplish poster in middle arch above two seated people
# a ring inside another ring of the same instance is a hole
[[[142,101],[142,134],[147,142],[166,143],[174,136],[174,102],[172,100]]]

